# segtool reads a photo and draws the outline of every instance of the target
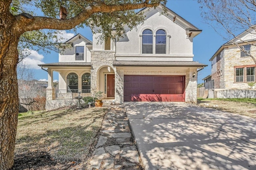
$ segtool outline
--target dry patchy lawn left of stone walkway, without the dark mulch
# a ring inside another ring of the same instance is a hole
[[[43,151],[57,162],[84,162],[106,111],[106,107],[92,107],[22,113],[15,155]]]

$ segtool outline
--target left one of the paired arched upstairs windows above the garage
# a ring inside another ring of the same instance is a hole
[[[142,54],[153,53],[153,34],[149,29],[142,32]]]

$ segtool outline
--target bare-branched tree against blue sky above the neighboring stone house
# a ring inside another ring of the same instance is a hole
[[[202,17],[228,43],[236,45],[241,51],[252,57],[255,56],[244,50],[244,44],[256,46],[255,41],[248,41],[238,36],[247,31],[253,39],[256,37],[256,1],[255,0],[198,0],[202,4]]]

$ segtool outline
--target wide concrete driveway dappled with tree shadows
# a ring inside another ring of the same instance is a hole
[[[181,102],[126,102],[146,170],[256,169],[256,119]]]

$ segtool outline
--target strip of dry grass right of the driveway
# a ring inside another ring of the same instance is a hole
[[[198,105],[256,118],[256,104],[248,100],[198,100]]]

